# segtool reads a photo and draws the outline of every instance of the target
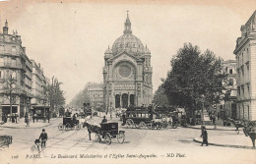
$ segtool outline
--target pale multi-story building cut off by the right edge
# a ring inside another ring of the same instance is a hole
[[[256,11],[240,27],[233,53],[237,62],[237,118],[256,120]]]

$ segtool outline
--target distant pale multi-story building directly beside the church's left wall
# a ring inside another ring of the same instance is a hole
[[[91,105],[94,108],[100,108],[103,106],[103,83],[88,82],[86,90],[90,98]]]

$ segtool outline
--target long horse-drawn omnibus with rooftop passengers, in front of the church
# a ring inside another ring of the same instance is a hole
[[[139,129],[157,129],[161,128],[177,128],[177,124],[173,124],[170,117],[175,112],[158,111],[153,112],[150,110],[127,110],[126,111],[126,126],[127,128]],[[176,123],[176,122],[175,122]]]

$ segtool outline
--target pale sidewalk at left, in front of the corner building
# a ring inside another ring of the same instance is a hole
[[[7,123],[0,125],[0,128],[11,128],[11,129],[36,129],[36,128],[43,128],[43,127],[47,127],[49,125],[51,125],[51,121],[56,120],[51,119],[50,123],[48,123],[48,121],[46,120],[45,123],[43,123],[42,120],[38,120],[38,122],[36,122],[34,120],[34,123],[31,121],[30,122],[30,127],[27,127],[27,124],[25,123],[25,118],[20,119],[20,121],[18,121],[18,123],[11,123],[10,121],[8,121]]]

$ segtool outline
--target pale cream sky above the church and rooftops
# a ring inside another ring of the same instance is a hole
[[[185,42],[234,60],[236,38],[255,1],[203,2],[7,1],[0,2],[0,26],[7,19],[9,32],[18,30],[28,57],[47,78],[63,82],[69,103],[87,82],[102,82],[104,51],[123,34],[127,10],[133,34],[152,53],[154,92]]]

